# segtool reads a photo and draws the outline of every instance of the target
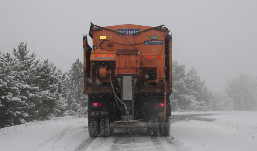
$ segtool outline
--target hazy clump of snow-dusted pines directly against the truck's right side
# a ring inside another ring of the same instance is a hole
[[[194,68],[185,74],[185,65],[173,61],[172,72],[170,101],[173,110],[211,110],[210,92]]]

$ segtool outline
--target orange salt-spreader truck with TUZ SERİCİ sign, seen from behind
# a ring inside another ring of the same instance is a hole
[[[91,23],[92,48],[83,37],[90,137],[109,137],[115,127],[169,136],[172,38],[163,26]]]

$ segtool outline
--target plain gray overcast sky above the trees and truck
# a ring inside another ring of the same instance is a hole
[[[0,0],[0,49],[12,53],[28,43],[37,59],[63,72],[83,60],[83,34],[98,26],[165,24],[173,38],[173,60],[194,67],[213,91],[224,91],[240,72],[257,76],[256,0]],[[92,40],[89,44],[92,46]]]

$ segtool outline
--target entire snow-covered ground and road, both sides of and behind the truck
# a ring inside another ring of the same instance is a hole
[[[87,123],[68,116],[2,128],[0,150],[257,150],[257,112],[176,112],[170,137],[149,137],[145,128],[116,128],[110,138],[90,138]]]

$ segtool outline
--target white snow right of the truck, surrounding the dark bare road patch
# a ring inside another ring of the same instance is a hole
[[[175,112],[172,115],[201,116],[215,121],[188,120],[171,124],[171,135],[187,142],[196,151],[257,150],[257,112]]]

